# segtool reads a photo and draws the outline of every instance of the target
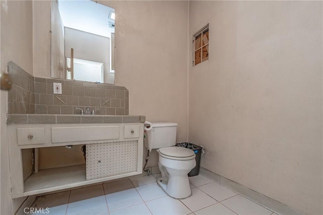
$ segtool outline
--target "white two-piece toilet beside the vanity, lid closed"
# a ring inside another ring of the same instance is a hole
[[[157,149],[161,178],[157,183],[173,198],[192,195],[187,174],[196,166],[193,150],[175,146],[176,123],[150,123],[144,127],[144,144],[150,151]]]

